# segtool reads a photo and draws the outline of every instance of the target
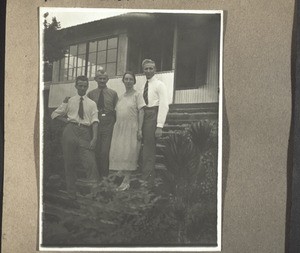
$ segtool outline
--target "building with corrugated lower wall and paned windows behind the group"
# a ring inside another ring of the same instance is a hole
[[[68,52],[53,65],[49,108],[76,93],[78,75],[90,79],[103,66],[108,86],[122,94],[126,70],[137,74],[136,89],[145,83],[141,62],[156,62],[157,77],[168,89],[169,102],[218,111],[220,14],[128,13],[61,29]],[[186,107],[186,106],[184,106]]]

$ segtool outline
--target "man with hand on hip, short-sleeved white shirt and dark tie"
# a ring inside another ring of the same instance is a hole
[[[98,109],[96,103],[86,96],[88,87],[88,78],[78,76],[75,83],[77,95],[65,98],[51,114],[52,119],[67,123],[62,135],[62,146],[67,191],[72,199],[76,198],[75,158],[77,156],[87,172],[87,182],[99,181],[94,153],[99,122]]]

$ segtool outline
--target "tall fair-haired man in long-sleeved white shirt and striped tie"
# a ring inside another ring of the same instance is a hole
[[[165,84],[155,77],[155,62],[145,59],[142,62],[142,68],[147,79],[143,91],[146,106],[144,107],[142,170],[144,178],[153,181],[155,178],[156,138],[162,136],[169,103]]]

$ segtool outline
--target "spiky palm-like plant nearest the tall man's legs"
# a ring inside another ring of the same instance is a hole
[[[186,243],[187,213],[191,195],[191,185],[195,184],[195,167],[198,156],[187,132],[177,132],[165,140],[164,157],[167,178],[171,187],[170,205],[178,222],[177,241]]]

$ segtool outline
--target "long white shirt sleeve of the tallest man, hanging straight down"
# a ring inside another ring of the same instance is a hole
[[[157,88],[159,96],[159,105],[156,126],[163,128],[169,111],[168,93],[167,87],[163,82],[160,82]]]

